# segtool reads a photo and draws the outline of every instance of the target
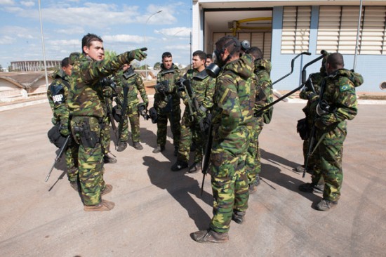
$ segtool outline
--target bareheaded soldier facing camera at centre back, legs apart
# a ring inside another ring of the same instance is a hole
[[[181,133],[180,95],[175,82],[180,80],[180,70],[173,64],[171,53],[162,54],[161,71],[157,74],[154,108],[157,110],[157,148],[154,153],[165,150],[168,120],[173,133],[174,154],[177,156]]]

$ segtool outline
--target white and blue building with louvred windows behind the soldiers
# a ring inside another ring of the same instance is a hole
[[[321,50],[344,55],[345,67],[354,68],[360,1],[218,1],[194,0],[192,50],[213,52],[215,41],[226,34],[248,39],[272,60],[272,80],[295,69],[275,84],[293,89],[300,84],[300,70]],[[363,1],[355,71],[364,77],[359,91],[380,91],[386,81],[386,1]],[[317,62],[307,74],[319,71]]]

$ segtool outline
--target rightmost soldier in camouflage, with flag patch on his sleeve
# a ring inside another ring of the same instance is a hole
[[[347,119],[354,119],[357,114],[357,95],[355,87],[363,83],[360,74],[344,69],[343,56],[331,53],[326,60],[327,77],[322,82],[321,99],[317,105],[318,117],[315,141],[320,142],[316,152],[315,173],[312,183],[317,185],[324,180],[323,199],[317,204],[319,211],[328,211],[338,204],[342,187],[343,142],[347,135]]]

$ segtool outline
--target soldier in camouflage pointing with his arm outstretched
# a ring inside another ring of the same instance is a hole
[[[79,145],[79,181],[85,211],[109,211],[114,203],[102,199],[111,192],[112,185],[103,180],[101,130],[106,116],[102,105],[100,79],[117,72],[122,65],[134,59],[143,60],[146,53],[134,50],[104,59],[102,39],[87,34],[82,39],[82,51],[73,66],[69,79],[68,106],[72,112],[72,136]]]

